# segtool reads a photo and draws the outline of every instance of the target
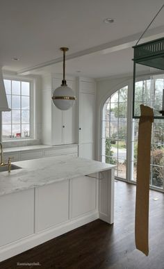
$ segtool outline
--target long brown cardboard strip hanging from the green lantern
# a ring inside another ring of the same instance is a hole
[[[140,105],[138,131],[138,161],[136,185],[136,248],[149,254],[149,175],[151,154],[151,127],[154,122],[153,109]]]

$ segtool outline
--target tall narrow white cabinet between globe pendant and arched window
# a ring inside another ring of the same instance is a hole
[[[95,81],[80,78],[79,87],[79,157],[95,158]]]

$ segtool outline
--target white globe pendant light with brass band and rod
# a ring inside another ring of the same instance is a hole
[[[61,111],[67,111],[74,105],[76,97],[74,96],[74,91],[67,86],[65,80],[65,51],[68,51],[68,48],[60,48],[63,51],[63,81],[60,87],[54,90],[52,101],[54,105]]]

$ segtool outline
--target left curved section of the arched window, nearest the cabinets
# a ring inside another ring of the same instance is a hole
[[[126,179],[128,87],[117,90],[104,105],[102,161],[116,165],[115,176]]]

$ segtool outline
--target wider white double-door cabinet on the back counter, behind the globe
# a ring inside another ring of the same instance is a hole
[[[61,81],[61,76],[58,78],[49,75],[42,78],[42,142],[45,145],[76,142],[76,105],[67,111],[60,111],[51,101],[51,96]],[[75,90],[75,79],[67,79],[67,85]]]

